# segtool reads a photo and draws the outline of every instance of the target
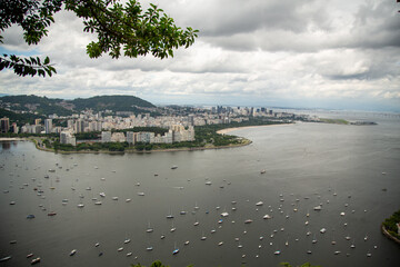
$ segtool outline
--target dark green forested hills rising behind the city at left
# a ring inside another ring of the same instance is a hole
[[[148,112],[147,109],[156,108],[151,102],[133,96],[100,96],[74,100],[52,99],[33,95],[6,96],[0,97],[0,106],[13,111],[37,112],[43,116],[53,113],[69,116],[84,109]]]

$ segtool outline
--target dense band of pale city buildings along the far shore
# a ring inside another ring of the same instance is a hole
[[[130,111],[116,112],[111,111],[93,112],[86,110],[81,113],[74,113],[70,117],[58,117],[51,115],[43,121],[37,119],[34,125],[23,125],[19,129],[17,123],[10,126],[8,118],[1,119],[1,132],[12,131],[27,134],[58,134],[61,144],[71,144],[73,146],[79,142],[74,135],[79,132],[101,132],[101,142],[127,141],[129,144],[172,144],[180,141],[194,140],[194,126],[218,125],[230,122],[242,122],[249,120],[250,117],[267,117],[270,119],[296,119],[294,113],[273,112],[267,108],[242,108],[242,107],[209,107],[209,108],[182,108],[182,107],[164,107],[161,110],[162,116],[152,117],[150,113],[134,115]],[[54,121],[63,121],[53,123]],[[154,132],[141,131],[133,132],[130,129],[136,127],[159,127],[168,129],[163,135]],[[126,130],[123,132],[112,132],[114,130]]]

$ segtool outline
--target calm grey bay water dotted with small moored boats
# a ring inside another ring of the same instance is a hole
[[[12,258],[0,266],[37,257],[74,267],[397,266],[400,246],[380,224],[400,209],[399,116],[321,117],[378,125],[239,129],[230,134],[251,145],[179,152],[60,155],[1,142],[0,258]]]

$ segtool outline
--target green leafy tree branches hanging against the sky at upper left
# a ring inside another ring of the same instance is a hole
[[[120,0],[7,0],[0,1],[0,31],[12,24],[20,26],[28,44],[38,44],[54,22],[60,10],[76,13],[83,20],[84,32],[96,33],[97,41],[87,46],[90,58],[108,53],[114,59],[151,53],[156,58],[173,57],[173,50],[188,48],[194,42],[198,30],[181,29],[162,9],[150,4],[143,11],[136,0],[124,4]],[[3,37],[0,36],[2,43]],[[50,58],[0,56],[0,71],[13,69],[18,76],[51,76],[56,73]]]

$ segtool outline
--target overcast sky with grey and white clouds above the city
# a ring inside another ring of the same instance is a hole
[[[50,98],[133,95],[153,103],[400,111],[400,4],[396,0],[154,0],[200,31],[173,58],[89,59],[91,40],[60,12],[39,46],[17,27],[0,52],[49,56],[58,73],[0,72],[0,93]]]

